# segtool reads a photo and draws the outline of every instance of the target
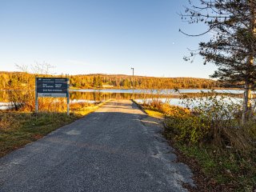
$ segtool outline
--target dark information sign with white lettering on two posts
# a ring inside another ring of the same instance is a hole
[[[70,114],[70,82],[68,78],[35,79],[35,112],[38,112],[38,97],[66,98],[67,114]]]

